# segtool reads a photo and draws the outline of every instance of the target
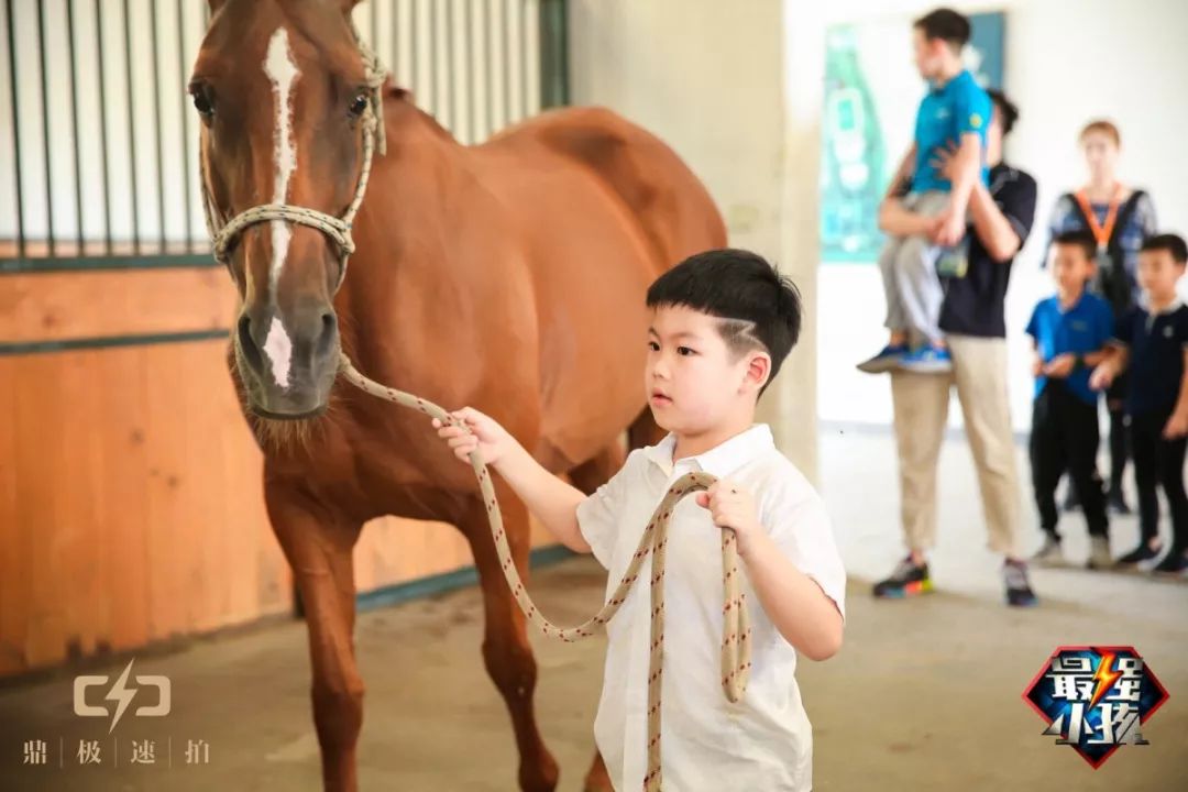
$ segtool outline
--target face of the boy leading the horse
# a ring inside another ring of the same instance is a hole
[[[771,360],[758,350],[735,356],[720,322],[685,306],[652,311],[644,393],[661,429],[696,435],[753,408]]]

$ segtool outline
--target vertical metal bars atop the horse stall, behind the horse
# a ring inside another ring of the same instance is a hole
[[[0,273],[210,264],[185,91],[207,2],[2,9]],[[568,101],[565,0],[369,0],[355,15],[461,142]]]

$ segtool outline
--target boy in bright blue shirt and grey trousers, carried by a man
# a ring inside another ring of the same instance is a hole
[[[929,82],[920,103],[916,132],[908,154],[891,179],[887,199],[910,179],[904,208],[933,218],[927,233],[891,236],[879,255],[891,331],[887,346],[859,365],[870,374],[904,368],[944,373],[953,361],[939,327],[944,291],[937,262],[961,270],[962,255],[944,255],[966,235],[966,208],[978,179],[986,183],[984,163],[990,96],[961,63],[969,40],[969,20],[939,8],[914,25],[916,68]],[[954,148],[955,147],[955,148]],[[953,153],[952,180],[939,167],[939,153]]]

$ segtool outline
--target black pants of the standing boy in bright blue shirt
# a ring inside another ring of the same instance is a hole
[[[1066,471],[1080,495],[1089,536],[1106,536],[1106,499],[1097,465],[1100,443],[1098,406],[1082,401],[1061,380],[1048,380],[1031,412],[1031,483],[1040,527],[1051,536],[1059,537],[1056,484]]]

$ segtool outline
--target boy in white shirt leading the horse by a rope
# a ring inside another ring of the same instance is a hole
[[[475,448],[541,522],[568,547],[593,552],[613,590],[647,521],[681,476],[718,482],[682,500],[666,546],[663,679],[665,792],[807,792],[813,730],[801,702],[797,654],[838,652],[846,574],[821,498],[754,424],[756,403],[795,346],[800,296],[790,280],[745,251],[709,251],[663,274],[652,309],[644,388],[669,436],[637,449],[593,495],[557,479],[493,419],[454,413],[470,432],[441,426],[460,460]],[[746,695],[722,693],[720,528],[738,537],[752,625]],[[615,790],[639,790],[646,772],[650,560],[607,626],[607,658],[594,734]]]

